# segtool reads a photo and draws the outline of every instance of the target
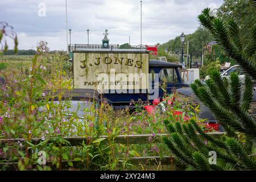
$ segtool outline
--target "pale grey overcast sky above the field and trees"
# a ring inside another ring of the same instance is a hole
[[[199,26],[197,15],[205,7],[219,7],[222,0],[142,1],[142,43],[164,43]],[[44,11],[44,6],[46,7]],[[110,44],[140,44],[139,0],[67,0],[71,43],[101,43],[109,30]],[[45,13],[45,14],[44,14]],[[18,34],[19,49],[35,49],[40,40],[51,50],[66,50],[65,0],[0,1],[0,21],[9,23]],[[69,38],[69,35],[68,35]],[[69,43],[69,40],[68,40]],[[13,46],[9,43],[10,48]]]

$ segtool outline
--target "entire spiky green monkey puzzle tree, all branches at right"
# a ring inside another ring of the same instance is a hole
[[[209,80],[196,80],[191,88],[196,97],[209,107],[218,122],[224,127],[225,135],[217,138],[205,133],[196,121],[188,123],[170,123],[164,121],[171,133],[163,140],[172,155],[189,168],[196,170],[256,170],[254,144],[256,123],[248,110],[253,97],[253,81],[256,80],[256,24],[254,41],[243,45],[240,25],[229,19],[210,16],[210,10],[203,10],[199,20],[212,33],[226,54],[232,57],[247,74],[241,78],[237,73],[223,77],[216,69],[210,71]],[[244,135],[241,140],[239,135]],[[206,143],[207,141],[207,143]],[[208,162],[209,152],[217,154],[217,164]]]

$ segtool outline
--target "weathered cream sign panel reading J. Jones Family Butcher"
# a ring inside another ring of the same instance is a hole
[[[78,89],[147,89],[148,51],[73,51]],[[104,91],[105,92],[105,91]]]

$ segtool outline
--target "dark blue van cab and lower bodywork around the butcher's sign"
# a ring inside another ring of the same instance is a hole
[[[158,92],[158,98],[161,100],[164,96],[164,90],[159,85],[166,85],[166,93],[171,93],[174,88],[183,88],[188,87],[188,84],[185,84],[180,76],[179,69],[181,65],[174,63],[167,63],[160,60],[149,60],[149,69],[151,80],[151,88],[155,89]],[[158,80],[152,79],[159,74]],[[164,78],[167,78],[164,80]],[[158,86],[156,86],[158,85]],[[143,92],[144,91],[144,92]],[[151,102],[154,100],[154,97],[150,99],[150,92],[148,90],[139,90],[139,93],[117,93],[115,90],[110,90],[110,93],[105,93],[103,98],[113,105],[129,105],[131,101],[134,102]]]

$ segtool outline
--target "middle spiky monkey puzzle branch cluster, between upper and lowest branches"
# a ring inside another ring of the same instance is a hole
[[[228,80],[216,70],[211,72],[206,84],[196,80],[191,85],[196,96],[214,113],[228,135],[234,136],[235,131],[240,131],[256,137],[255,119],[247,112],[253,96],[251,87],[248,77],[243,81],[232,73]]]

